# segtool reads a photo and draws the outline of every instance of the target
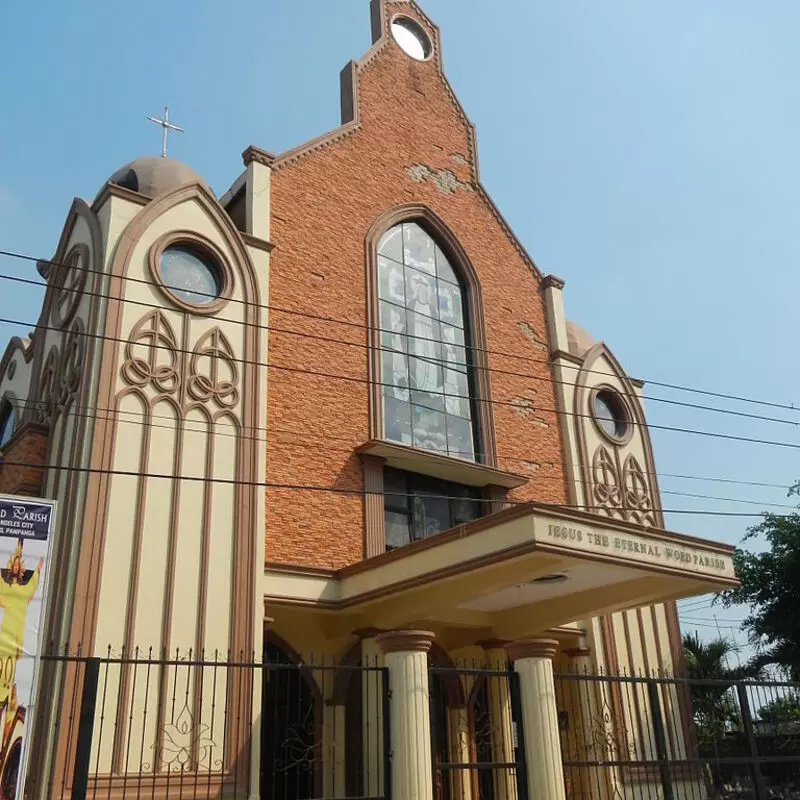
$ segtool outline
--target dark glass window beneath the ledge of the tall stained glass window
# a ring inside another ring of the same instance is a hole
[[[413,472],[385,469],[383,491],[387,550],[427,539],[486,513],[474,487]]]

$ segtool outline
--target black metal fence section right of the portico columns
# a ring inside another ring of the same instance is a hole
[[[567,796],[800,799],[800,684],[556,675]]]

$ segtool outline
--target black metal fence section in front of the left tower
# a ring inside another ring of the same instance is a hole
[[[49,796],[246,798],[257,776],[265,800],[390,800],[385,668],[298,663],[269,646],[263,661],[48,662],[64,697]]]

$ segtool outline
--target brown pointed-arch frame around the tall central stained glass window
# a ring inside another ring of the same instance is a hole
[[[380,296],[378,280],[378,245],[382,236],[401,223],[416,223],[439,246],[456,273],[462,292],[464,338],[466,344],[470,411],[473,430],[474,459],[476,464],[496,467],[497,455],[494,436],[494,417],[491,405],[491,387],[486,354],[486,336],[480,283],[469,258],[458,239],[447,225],[427,206],[409,204],[382,214],[372,225],[366,237],[367,261],[367,334],[369,380],[370,438],[385,439],[383,432],[382,365],[380,341]],[[404,446],[398,442],[400,446]],[[411,445],[408,445],[413,449]],[[439,452],[439,451],[431,451]],[[440,453],[447,458],[458,458]]]

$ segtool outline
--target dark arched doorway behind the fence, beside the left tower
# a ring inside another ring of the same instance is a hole
[[[321,776],[322,698],[291,648],[265,638],[261,686],[261,798],[312,800]]]

